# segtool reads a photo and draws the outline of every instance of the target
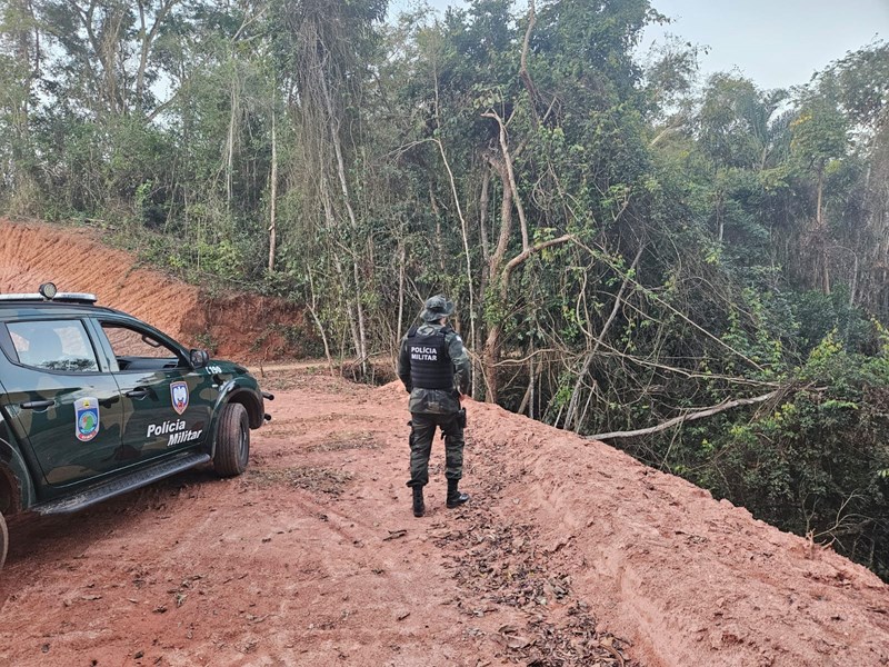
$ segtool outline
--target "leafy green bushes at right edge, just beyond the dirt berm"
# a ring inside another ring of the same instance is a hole
[[[887,348],[858,355],[829,334],[777,405],[710,435],[693,477],[756,517],[831,542],[886,577],[887,442]]]

